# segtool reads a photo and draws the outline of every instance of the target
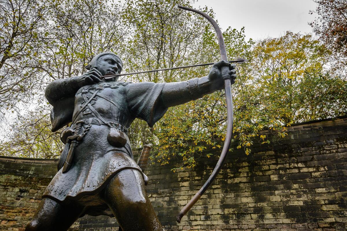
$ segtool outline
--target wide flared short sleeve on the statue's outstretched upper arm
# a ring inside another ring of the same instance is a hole
[[[164,86],[165,83],[153,82],[129,84],[126,95],[130,113],[153,127],[168,109],[161,97]]]

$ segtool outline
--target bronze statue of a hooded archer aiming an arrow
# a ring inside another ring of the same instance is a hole
[[[218,35],[223,40],[220,30]],[[202,78],[128,83],[117,81],[123,65],[120,58],[105,52],[93,57],[85,74],[51,82],[45,96],[53,106],[52,131],[68,123],[71,126],[61,133],[65,148],[59,171],[26,231],[67,230],[84,214],[115,216],[124,231],[162,230],[146,195],[147,177],[134,161],[127,130],[135,118],[152,127],[168,107],[201,98],[223,86],[231,97],[235,65],[224,60],[226,54]],[[200,196],[193,198],[195,201],[180,218]]]

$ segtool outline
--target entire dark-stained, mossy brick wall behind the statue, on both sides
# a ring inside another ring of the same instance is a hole
[[[194,170],[175,173],[170,171],[175,162],[148,167],[147,193],[161,223],[167,230],[347,230],[347,118],[298,124],[284,139],[271,140],[254,144],[249,156],[230,153],[212,187],[180,224],[176,215],[218,158],[200,158]],[[0,230],[23,230],[56,164],[0,158]],[[115,222],[84,216],[70,230],[117,230]]]

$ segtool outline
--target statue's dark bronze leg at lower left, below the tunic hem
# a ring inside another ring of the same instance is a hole
[[[66,231],[82,212],[81,206],[62,205],[50,198],[43,198],[25,231]]]

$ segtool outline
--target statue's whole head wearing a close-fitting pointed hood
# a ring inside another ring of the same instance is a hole
[[[102,75],[119,74],[122,71],[123,63],[119,56],[111,52],[103,52],[97,54],[86,66],[87,70],[96,68]],[[108,79],[106,81],[117,81],[118,77]]]

